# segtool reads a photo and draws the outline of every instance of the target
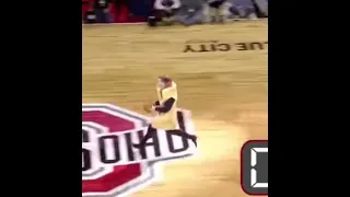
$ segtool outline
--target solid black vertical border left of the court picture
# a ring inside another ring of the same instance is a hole
[[[2,8],[2,193],[79,197],[81,1]]]

